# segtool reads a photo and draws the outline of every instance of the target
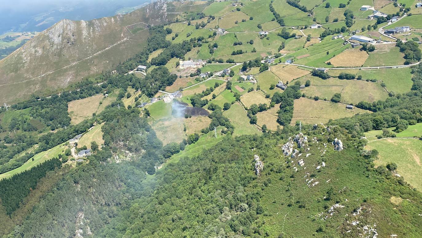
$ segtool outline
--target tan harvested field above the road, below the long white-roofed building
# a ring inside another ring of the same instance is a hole
[[[327,62],[331,62],[331,64],[335,67],[360,67],[365,63],[368,57],[369,55],[366,51],[361,51],[358,48],[349,48],[334,56],[333,58],[327,60]]]

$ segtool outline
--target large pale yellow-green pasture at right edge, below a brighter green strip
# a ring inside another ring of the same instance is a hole
[[[396,172],[403,176],[405,181],[418,190],[422,189],[422,166],[420,156],[422,155],[422,141],[419,139],[380,139],[369,142],[368,150],[378,150],[378,160],[374,163],[386,165],[394,162],[398,165]]]

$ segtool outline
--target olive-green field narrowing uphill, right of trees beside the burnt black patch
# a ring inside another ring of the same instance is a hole
[[[260,133],[256,126],[249,123],[249,118],[239,102],[232,104],[229,110],[223,112],[223,115],[229,118],[230,122],[235,127],[233,136]]]

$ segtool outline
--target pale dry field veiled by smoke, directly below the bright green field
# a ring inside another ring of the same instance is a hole
[[[170,142],[180,143],[186,137],[183,131],[183,120],[184,118],[163,119],[154,121],[151,127],[163,144]]]

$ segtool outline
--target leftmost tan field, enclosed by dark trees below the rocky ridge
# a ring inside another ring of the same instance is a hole
[[[68,102],[68,113],[72,124],[78,124],[85,119],[92,118],[92,113],[97,112],[103,94],[98,94],[84,99]]]

